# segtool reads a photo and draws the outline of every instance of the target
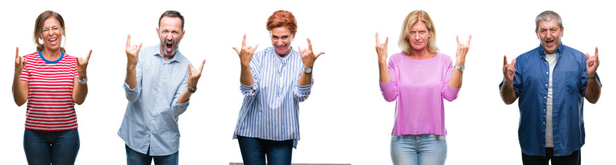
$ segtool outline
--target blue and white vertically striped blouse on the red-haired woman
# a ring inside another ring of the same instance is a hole
[[[242,85],[244,102],[233,139],[238,135],[263,140],[300,140],[299,102],[310,96],[312,84],[298,85],[304,65],[299,52],[280,57],[272,47],[253,54],[250,69],[252,86]]]

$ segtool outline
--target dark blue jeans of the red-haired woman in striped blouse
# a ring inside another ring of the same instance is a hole
[[[254,137],[238,135],[240,152],[245,165],[267,164],[291,164],[291,152],[293,152],[293,140],[262,140]]]

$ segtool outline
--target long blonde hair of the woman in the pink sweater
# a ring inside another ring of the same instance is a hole
[[[432,19],[430,19],[430,15],[423,10],[415,10],[410,12],[406,19],[404,19],[404,23],[402,23],[402,30],[400,32],[400,39],[398,40],[398,46],[402,49],[402,52],[407,55],[412,55],[413,47],[411,47],[411,43],[407,39],[407,36],[410,34],[410,28],[417,23],[417,21],[423,21],[425,23],[425,28],[427,28],[428,32],[430,32],[430,37],[427,39],[427,52],[432,54],[439,51],[439,47],[436,47],[436,28],[434,28],[434,23],[432,23]]]

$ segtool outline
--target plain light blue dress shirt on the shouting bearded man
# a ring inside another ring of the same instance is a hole
[[[128,105],[117,131],[129,148],[145,154],[149,147],[152,156],[179,150],[177,117],[186,111],[189,101],[177,104],[177,98],[186,90],[187,65],[191,63],[180,50],[168,61],[160,54],[159,45],[139,51],[137,87],[131,89],[124,83]]]

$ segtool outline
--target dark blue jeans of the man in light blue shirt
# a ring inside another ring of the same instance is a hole
[[[177,151],[171,155],[150,156],[150,148],[148,148],[148,153],[145,154],[134,151],[126,144],[124,144],[124,148],[126,148],[126,164],[128,165],[150,165],[152,164],[152,159],[154,159],[154,164],[156,165],[177,165],[177,159],[180,155],[180,151]]]

